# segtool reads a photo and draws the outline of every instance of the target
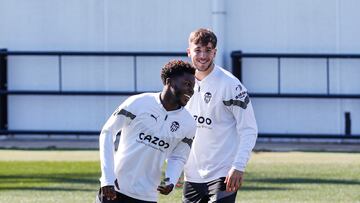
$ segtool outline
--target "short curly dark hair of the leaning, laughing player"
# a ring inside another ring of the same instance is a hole
[[[184,73],[195,75],[195,68],[188,62],[182,60],[172,60],[165,64],[161,69],[161,80],[165,85],[167,78],[181,76]]]

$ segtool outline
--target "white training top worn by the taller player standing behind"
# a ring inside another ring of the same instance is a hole
[[[197,130],[185,165],[185,180],[205,183],[226,177],[233,167],[244,171],[257,138],[247,90],[230,72],[215,66],[196,80],[187,108]]]

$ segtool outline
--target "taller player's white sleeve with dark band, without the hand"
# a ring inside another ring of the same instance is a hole
[[[244,172],[255,146],[258,130],[246,88],[240,82],[230,88],[228,91],[230,91],[231,99],[225,100],[224,104],[234,115],[237,134],[240,136],[240,143],[232,168]]]

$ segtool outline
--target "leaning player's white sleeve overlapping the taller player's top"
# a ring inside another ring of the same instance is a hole
[[[169,178],[169,183],[176,185],[184,165],[189,157],[191,144],[194,139],[196,127],[192,123],[192,128],[189,128],[187,135],[176,145],[167,159],[167,167],[165,177]]]

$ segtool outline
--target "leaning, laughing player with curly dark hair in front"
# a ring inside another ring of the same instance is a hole
[[[110,116],[99,137],[102,175],[96,202],[156,202],[158,192],[172,191],[196,130],[184,108],[194,93],[194,74],[190,63],[170,61],[161,70],[162,92],[131,96]]]

